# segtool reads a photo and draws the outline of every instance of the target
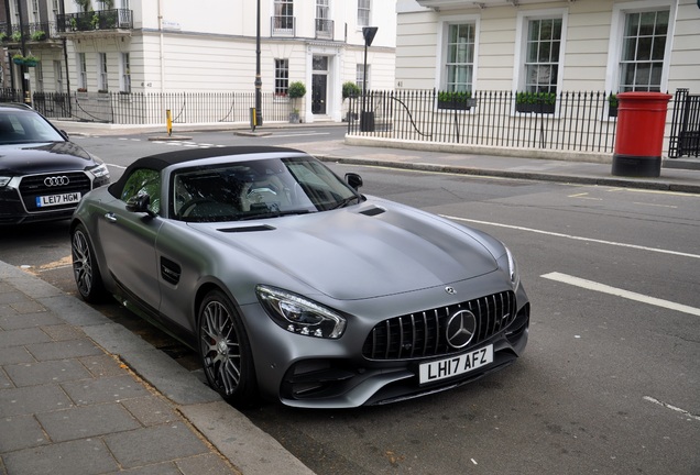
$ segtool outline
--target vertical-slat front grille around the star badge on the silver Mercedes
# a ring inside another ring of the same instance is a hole
[[[475,346],[513,322],[515,295],[504,291],[384,320],[370,332],[362,355],[369,360],[412,360],[463,351],[450,346],[446,336],[447,322],[460,310],[469,310],[477,319],[477,331],[469,343]]]

